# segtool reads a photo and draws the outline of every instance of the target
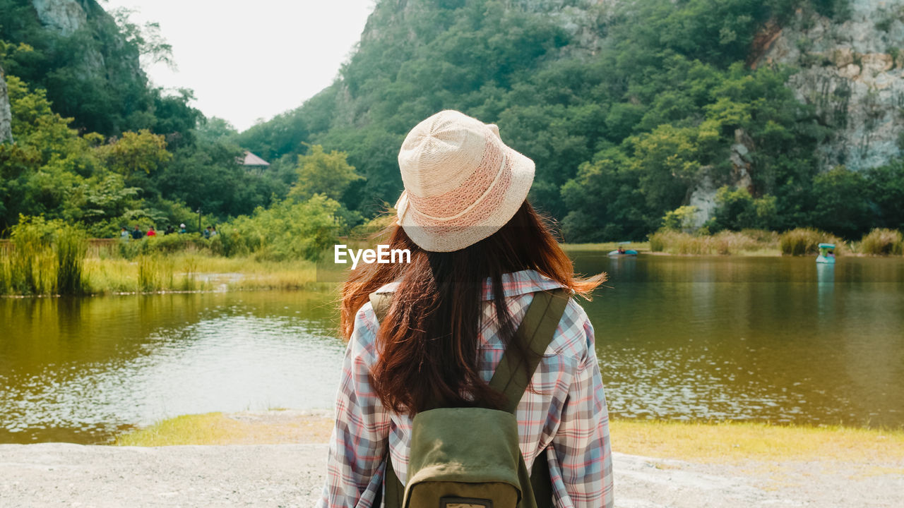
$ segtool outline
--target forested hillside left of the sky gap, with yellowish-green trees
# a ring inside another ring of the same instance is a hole
[[[0,136],[0,236],[20,214],[110,236],[196,224],[199,208],[208,221],[247,214],[287,193],[282,175],[236,164],[230,128],[189,106],[191,90],[148,83],[139,57],[169,48],[117,14],[94,0],[0,0],[0,134],[8,111],[13,140]]]

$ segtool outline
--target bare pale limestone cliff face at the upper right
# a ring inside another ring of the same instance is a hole
[[[835,130],[819,148],[824,170],[884,165],[904,145],[904,0],[851,8],[841,24],[798,13],[754,61],[802,68],[787,85]]]

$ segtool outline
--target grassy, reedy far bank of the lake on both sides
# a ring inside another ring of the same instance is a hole
[[[43,245],[35,240],[34,245],[24,247],[33,250],[27,256],[12,255],[15,249],[5,242],[0,245],[4,254],[0,259],[0,296],[315,289],[343,278],[341,269],[327,269],[328,262],[318,267],[314,261],[305,259],[268,261],[254,255],[226,257],[215,249],[202,249],[187,240],[176,245],[184,249],[175,249],[169,245],[175,240],[142,240],[127,244],[103,240],[102,244],[87,249],[83,240],[76,239],[69,243],[58,242],[55,250],[50,244]],[[835,243],[838,256],[899,257],[904,251],[904,240],[897,230],[872,230],[860,242],[845,242],[823,231],[807,229],[781,234],[767,230],[724,230],[712,235],[659,230],[650,235],[648,241],[560,245],[567,252],[576,254],[609,252],[623,247],[645,255],[780,257],[815,256],[820,242]],[[71,249],[61,249],[67,246]],[[174,250],[167,250],[169,247]],[[130,254],[122,255],[120,250]],[[80,253],[88,255],[81,257]],[[322,273],[318,274],[318,269]]]

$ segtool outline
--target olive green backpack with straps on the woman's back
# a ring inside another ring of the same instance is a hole
[[[391,293],[372,293],[382,321]],[[552,341],[568,304],[564,289],[534,293],[516,340],[529,352],[530,367],[503,354],[490,386],[504,393],[505,410],[438,408],[412,422],[408,484],[402,487],[386,456],[386,508],[552,508],[552,484],[545,453],[532,473],[518,447],[514,411]],[[380,506],[377,499],[375,507]]]

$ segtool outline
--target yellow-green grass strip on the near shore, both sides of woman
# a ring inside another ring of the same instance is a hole
[[[117,438],[116,446],[325,443],[325,411],[206,413],[165,419]],[[740,460],[904,460],[904,429],[778,426],[747,422],[614,419],[613,448],[704,463]]]

